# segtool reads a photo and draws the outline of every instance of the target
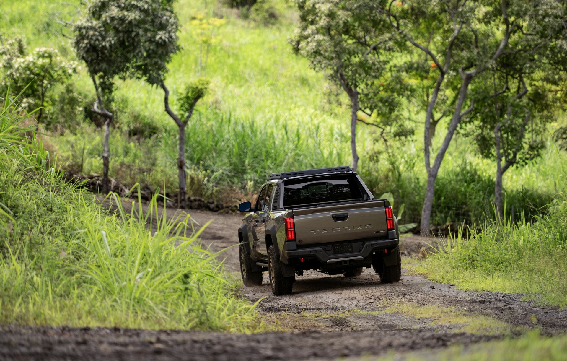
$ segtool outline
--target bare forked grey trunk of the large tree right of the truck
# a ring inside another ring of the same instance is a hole
[[[426,169],[428,173],[427,177],[427,186],[425,188],[425,199],[424,199],[424,207],[421,210],[421,234],[422,236],[428,236],[431,233],[431,208],[433,207],[433,198],[435,195],[435,180],[437,180],[437,174],[439,173],[439,167],[441,167],[441,162],[443,161],[443,157],[445,157],[445,153],[451,143],[451,138],[453,137],[457,126],[460,123],[460,120],[464,115],[468,112],[471,112],[474,106],[474,102],[471,102],[471,106],[464,112],[461,112],[463,109],[464,100],[467,97],[468,86],[471,83],[473,75],[472,74],[464,74],[463,75],[463,83],[461,84],[459,90],[459,98],[455,104],[455,110],[453,112],[453,117],[451,119],[451,123],[447,129],[447,133],[445,135],[445,139],[443,143],[439,147],[437,152],[437,156],[435,156],[435,161],[433,162],[433,166],[429,167],[429,147],[425,146],[426,150]],[[426,136],[425,136],[425,144],[428,144],[429,140],[429,129],[426,123]]]

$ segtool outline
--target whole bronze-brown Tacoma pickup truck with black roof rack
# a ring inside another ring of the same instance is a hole
[[[274,295],[287,295],[295,275],[316,270],[356,277],[372,266],[382,283],[397,282],[397,220],[387,199],[375,199],[350,167],[270,174],[238,228],[244,286],[268,271]]]

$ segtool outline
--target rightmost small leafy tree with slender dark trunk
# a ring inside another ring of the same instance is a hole
[[[552,31],[547,28],[546,31]],[[565,74],[549,61],[549,46],[563,30],[549,33],[537,46],[521,45],[522,52],[511,52],[495,62],[482,81],[472,89],[477,107],[468,132],[481,156],[496,160],[494,207],[503,223],[502,178],[513,166],[522,166],[540,156],[544,148],[541,134],[553,121],[553,114],[564,109],[565,98],[558,94]],[[522,39],[526,40],[526,39]]]

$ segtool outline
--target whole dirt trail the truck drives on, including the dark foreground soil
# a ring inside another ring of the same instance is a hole
[[[242,224],[240,215],[194,209],[188,213],[198,224],[213,220],[201,237],[210,250],[236,244],[236,229]],[[168,216],[176,214],[180,211],[168,209]],[[402,241],[405,254],[417,255],[424,242],[430,240],[411,236]],[[226,257],[227,271],[239,277],[238,249],[231,247],[222,257]],[[530,328],[539,328],[544,334],[567,330],[565,310],[535,307],[534,303],[522,301],[522,295],[462,291],[449,284],[432,283],[407,270],[395,284],[380,283],[372,269],[364,270],[358,278],[308,271],[297,277],[291,295],[279,297],[272,295],[267,280],[265,274],[262,286],[243,287],[242,296],[250,301],[264,297],[259,311],[265,322],[289,332],[244,335],[5,326],[0,329],[0,360],[335,359],[452,343],[467,345],[500,338],[503,329],[507,334]],[[414,309],[433,313],[422,317]],[[454,313],[461,316],[460,323],[443,318]],[[477,319],[488,320],[496,329],[476,334],[463,331],[467,330],[467,322]],[[483,334],[486,332],[490,334]]]

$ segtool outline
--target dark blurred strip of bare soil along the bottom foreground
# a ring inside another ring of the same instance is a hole
[[[494,336],[409,330],[321,333],[226,334],[119,328],[26,328],[0,330],[0,359],[6,360],[303,360],[379,355],[387,350],[469,345]]]

